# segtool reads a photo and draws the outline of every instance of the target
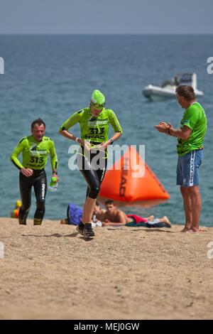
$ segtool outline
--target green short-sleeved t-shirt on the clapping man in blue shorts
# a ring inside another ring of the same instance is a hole
[[[202,148],[204,136],[207,131],[207,117],[204,109],[198,102],[194,102],[185,109],[180,128],[188,126],[192,132],[187,140],[178,138],[178,156],[185,156],[186,153]]]

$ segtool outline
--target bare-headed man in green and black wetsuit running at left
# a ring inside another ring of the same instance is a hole
[[[18,221],[26,225],[26,218],[31,207],[31,189],[34,187],[37,208],[34,215],[34,225],[42,223],[45,214],[45,195],[47,192],[47,178],[45,165],[50,154],[53,176],[57,178],[58,158],[55,153],[54,141],[45,135],[45,123],[42,119],[35,119],[31,124],[31,136],[23,137],[13,149],[11,161],[20,171],[19,185],[21,193],[21,208]],[[22,153],[22,163],[18,155]]]

